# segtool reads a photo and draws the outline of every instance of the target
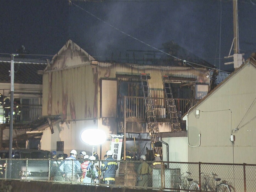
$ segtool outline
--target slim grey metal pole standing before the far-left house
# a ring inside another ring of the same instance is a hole
[[[14,92],[14,56],[18,54],[11,55],[11,114],[10,114],[10,134],[9,134],[9,159],[12,159],[12,131],[13,131],[13,92]]]

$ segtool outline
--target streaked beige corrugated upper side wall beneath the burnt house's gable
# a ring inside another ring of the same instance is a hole
[[[43,115],[63,114],[66,120],[93,118],[94,86],[90,65],[45,73]]]

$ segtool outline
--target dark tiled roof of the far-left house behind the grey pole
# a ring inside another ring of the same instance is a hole
[[[10,83],[10,58],[0,58],[0,82]],[[44,70],[47,66],[46,60],[38,59],[14,59],[14,83],[20,84],[42,84],[42,75],[38,70]]]

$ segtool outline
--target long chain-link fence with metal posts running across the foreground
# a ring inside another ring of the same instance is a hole
[[[116,174],[106,176],[100,170],[102,164],[107,164],[102,160],[92,161],[91,170],[81,166],[90,163],[81,159],[1,159],[0,162],[0,179],[168,191],[254,192],[256,188],[256,164],[118,161]]]

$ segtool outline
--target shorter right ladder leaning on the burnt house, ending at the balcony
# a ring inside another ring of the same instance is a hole
[[[161,70],[161,74],[162,74],[165,99],[166,99],[167,117],[170,119],[172,123],[172,131],[180,131],[181,130],[180,120],[178,118],[175,100],[173,99],[173,95],[172,95],[172,88],[170,85],[168,71],[167,71],[167,74],[164,75],[163,71]]]

